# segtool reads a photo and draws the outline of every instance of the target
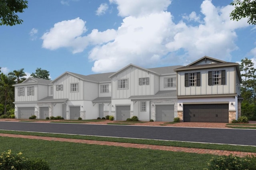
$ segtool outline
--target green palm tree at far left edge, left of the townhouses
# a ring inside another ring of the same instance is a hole
[[[3,73],[0,74],[0,94],[4,97],[4,114],[6,114],[8,100],[12,100],[14,98],[14,87],[12,86],[13,84],[15,84],[14,76],[7,76]]]

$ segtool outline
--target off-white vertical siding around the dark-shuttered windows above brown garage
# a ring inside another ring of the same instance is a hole
[[[226,84],[224,85],[208,85],[208,71],[226,70]],[[200,72],[201,86],[185,87],[185,73]],[[214,94],[234,94],[236,88],[236,68],[235,67],[219,67],[202,70],[188,70],[178,72],[178,96],[192,96],[192,95],[214,95]]]

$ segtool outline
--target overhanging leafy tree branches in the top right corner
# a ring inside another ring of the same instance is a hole
[[[248,18],[249,24],[256,24],[256,0],[234,0],[231,3],[235,9],[230,13],[232,20],[241,20]]]

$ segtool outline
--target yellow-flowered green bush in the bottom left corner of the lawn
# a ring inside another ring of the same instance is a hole
[[[2,152],[0,170],[50,170],[48,163],[41,159],[28,159],[22,153],[14,154],[11,150]]]

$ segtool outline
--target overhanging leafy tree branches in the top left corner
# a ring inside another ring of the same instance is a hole
[[[27,0],[1,0],[0,1],[0,25],[16,25],[21,24],[16,13],[24,12],[28,8]]]

